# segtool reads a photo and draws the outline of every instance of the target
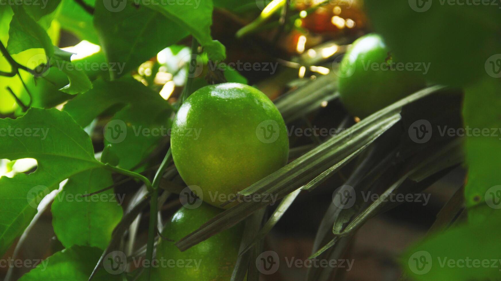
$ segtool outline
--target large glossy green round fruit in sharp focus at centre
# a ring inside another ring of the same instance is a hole
[[[263,92],[222,83],[184,101],[172,125],[171,149],[185,183],[199,186],[197,195],[220,207],[226,201],[221,193],[234,195],[285,165],[289,139],[282,115]]]

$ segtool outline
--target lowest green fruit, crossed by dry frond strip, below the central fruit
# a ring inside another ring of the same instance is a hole
[[[202,203],[199,207],[189,209],[182,207],[168,222],[162,235],[172,240],[179,240],[196,230],[207,220],[219,214],[222,210],[209,204]],[[229,280],[236,263],[240,245],[243,224],[239,223],[229,229],[219,232],[205,241],[180,251],[174,242],[162,240],[157,247],[157,259],[190,260],[193,267],[161,266],[158,267],[158,276],[161,281],[212,281]],[[199,264],[198,270],[194,261]],[[185,263],[186,264],[186,263]]]

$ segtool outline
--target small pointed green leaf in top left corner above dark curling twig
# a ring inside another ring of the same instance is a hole
[[[9,29],[7,50],[11,54],[31,48],[44,48],[47,56],[52,57],[54,47],[44,28],[26,13],[23,6],[13,5],[14,16]]]

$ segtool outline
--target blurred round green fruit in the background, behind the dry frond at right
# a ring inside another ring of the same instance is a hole
[[[355,40],[343,57],[338,72],[339,94],[352,115],[366,117],[424,87],[422,70],[383,70],[385,62],[398,61],[375,33]],[[374,63],[380,68],[374,70]]]

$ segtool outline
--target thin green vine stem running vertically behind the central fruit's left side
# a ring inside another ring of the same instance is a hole
[[[191,39],[191,54],[197,53],[198,49],[198,41],[193,37]],[[192,57],[192,59],[196,59],[196,57]],[[188,77],[186,78],[186,84],[184,85],[184,89],[181,93],[181,96],[179,97],[179,106],[186,100],[186,98],[191,94],[192,89],[193,89],[193,73],[194,68],[196,67],[196,63],[193,65],[193,63],[188,63],[189,71],[188,71]],[[151,197],[150,197],[150,220],[149,220],[149,225],[148,225],[148,242],[146,244],[146,260],[149,261],[150,266],[147,266],[145,268],[145,274],[146,274],[146,279],[147,281],[150,280],[151,276],[151,264],[153,260],[153,247],[155,245],[155,236],[157,234],[157,212],[158,212],[158,186],[160,185],[160,181],[163,176],[163,172],[169,165],[170,161],[172,160],[172,152],[169,149],[167,150],[167,153],[165,154],[165,157],[162,160],[162,163],[160,164],[160,167],[158,168],[157,172],[155,173],[155,177],[153,177],[153,183],[152,183],[152,190],[151,190]]]

